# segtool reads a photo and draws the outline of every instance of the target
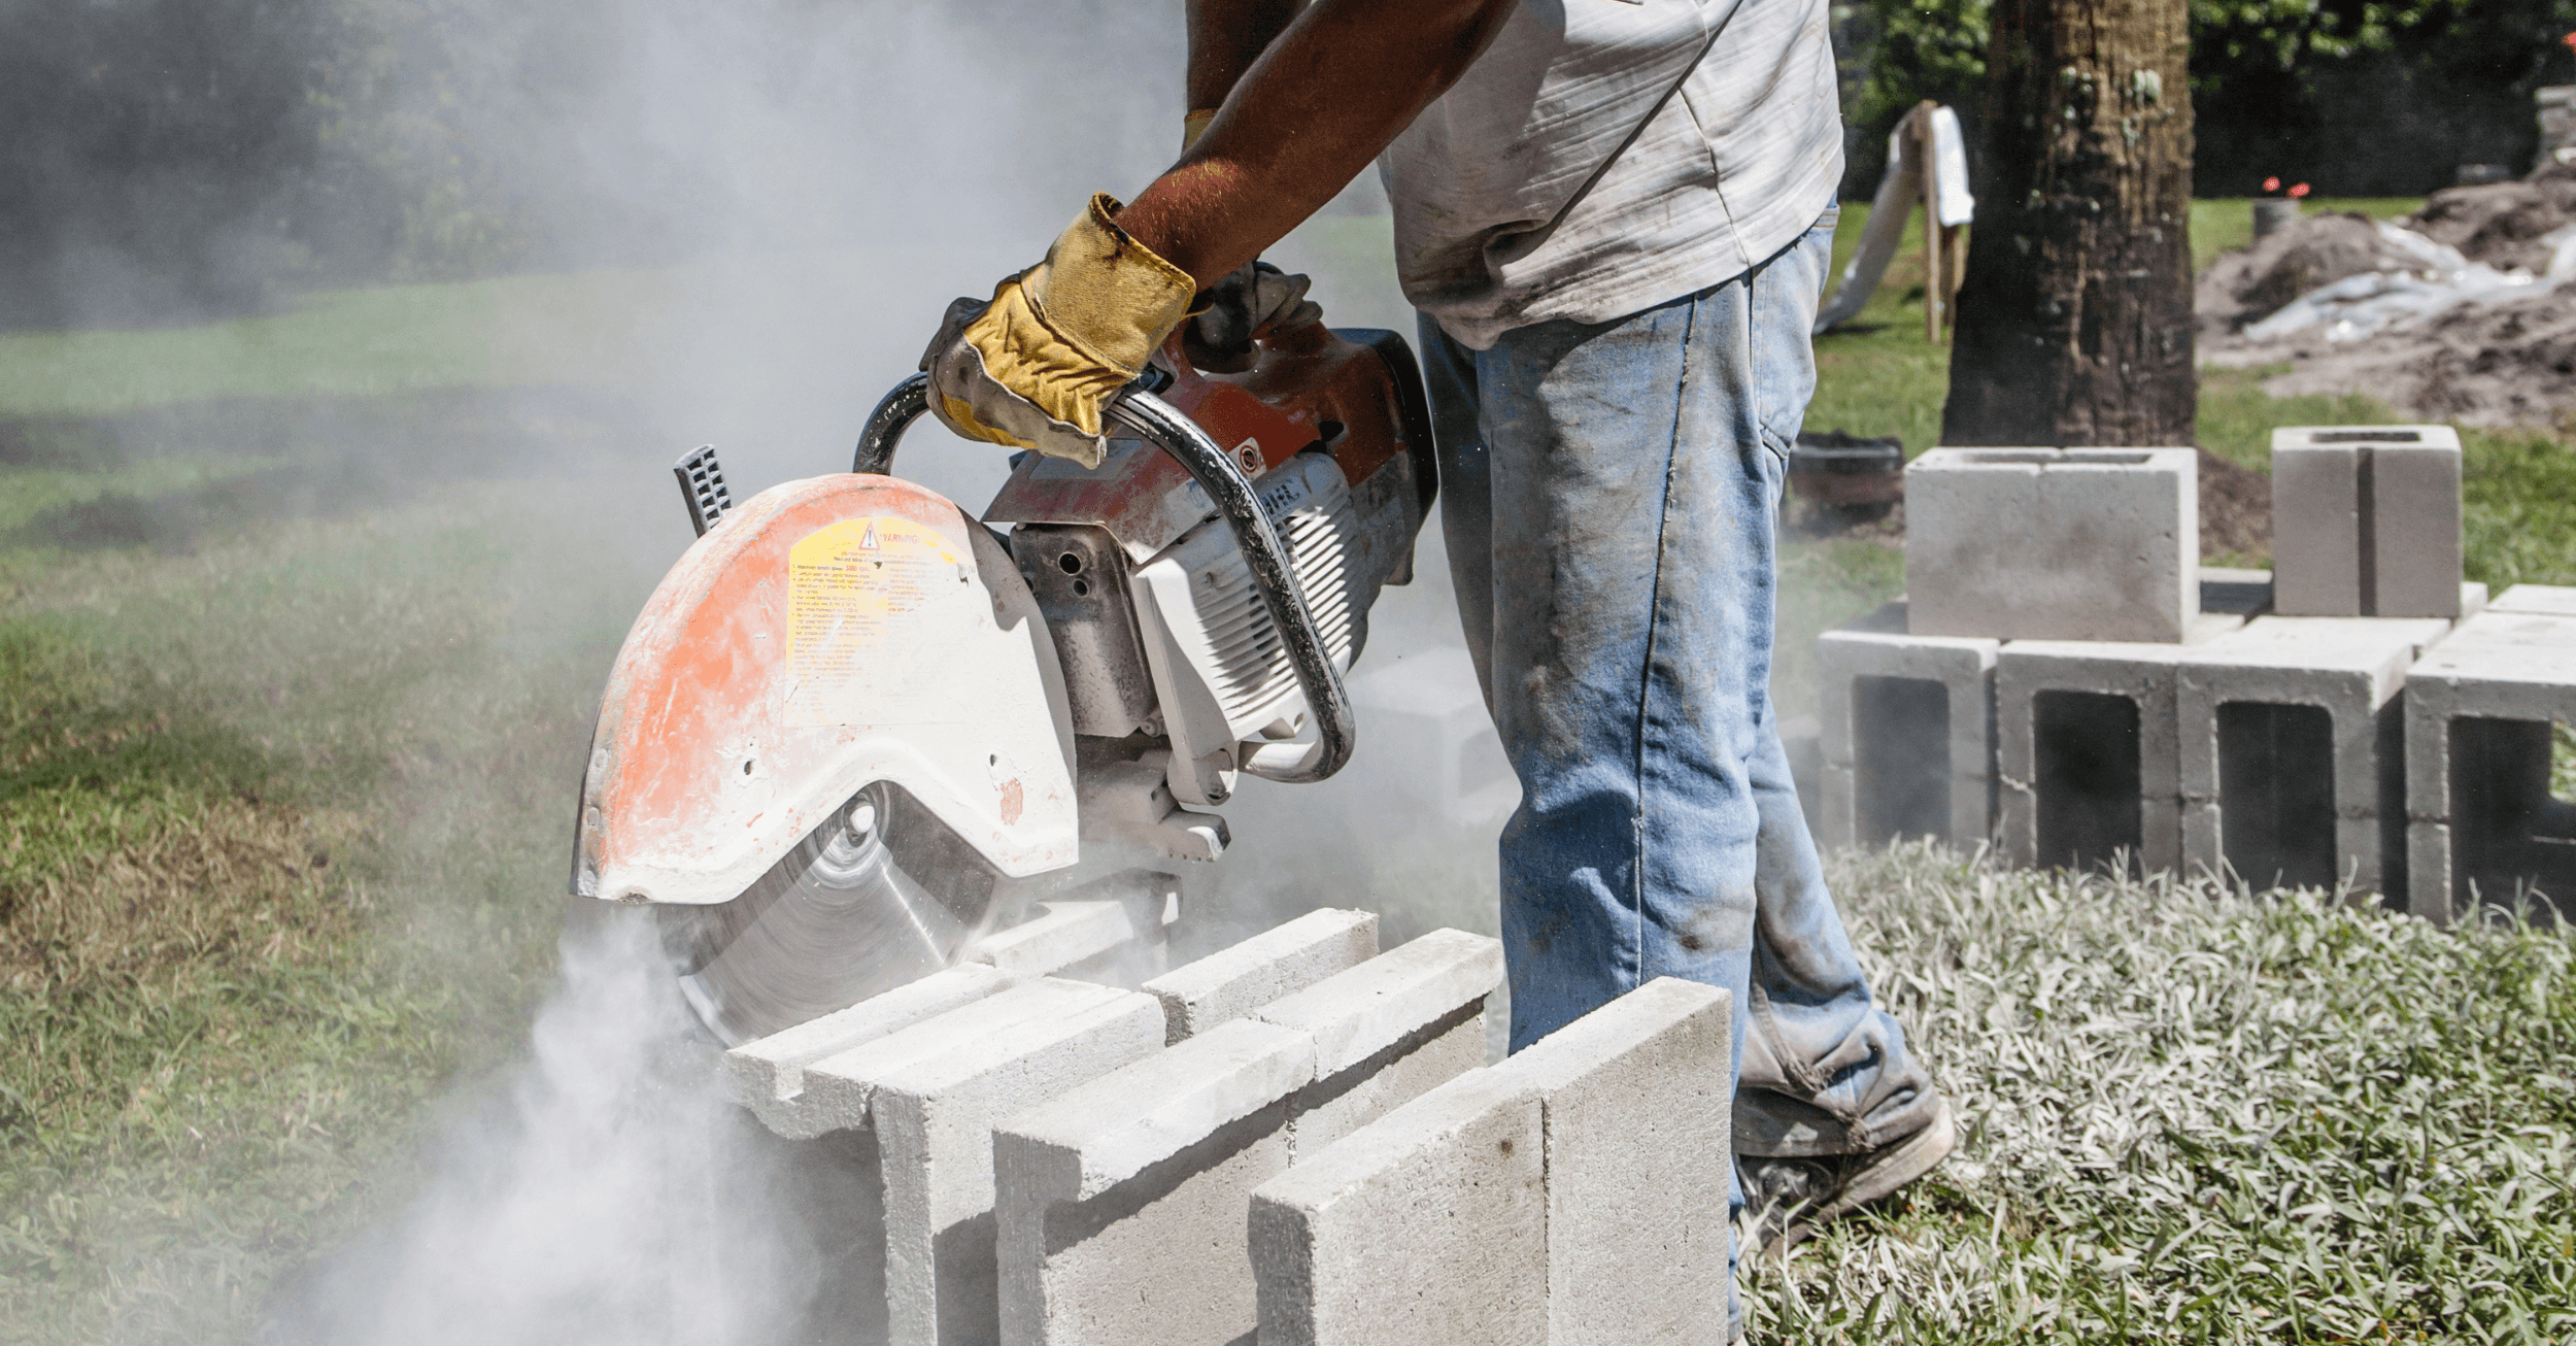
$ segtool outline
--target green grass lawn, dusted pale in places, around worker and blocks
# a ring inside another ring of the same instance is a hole
[[[2244,214],[2202,204],[2195,242]],[[1337,317],[1401,317],[1383,240],[1296,242]],[[554,977],[598,683],[685,541],[672,387],[829,431],[917,340],[845,312],[989,271],[737,258],[0,335],[0,1343],[247,1341],[415,1191]],[[1819,343],[1811,425],[1935,441],[1919,284],[1901,253],[1875,330]],[[2210,374],[2200,420],[2251,467],[2272,425],[2385,418],[2257,382]],[[2576,583],[2568,449],[2468,444],[2473,578]],[[1891,539],[1793,541],[1783,699],[1901,585]],[[1437,872],[1370,884],[1391,928],[1458,905],[1409,892]],[[1754,1269],[1757,1341],[2576,1336],[2566,936],[1937,851],[1837,874],[1968,1145]]]

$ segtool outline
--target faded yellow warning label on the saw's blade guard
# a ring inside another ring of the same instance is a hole
[[[933,593],[966,575],[948,539],[894,516],[842,518],[788,547],[791,725],[889,725],[909,714],[912,621]]]

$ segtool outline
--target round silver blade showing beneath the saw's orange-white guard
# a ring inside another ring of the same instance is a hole
[[[899,861],[889,830],[907,815],[930,823],[873,784],[742,897],[662,908],[680,993],[719,1042],[739,1047],[948,967],[974,928]]]

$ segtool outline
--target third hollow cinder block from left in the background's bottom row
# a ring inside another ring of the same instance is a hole
[[[2442,619],[2264,616],[2177,676],[2182,853],[2254,887],[2380,892],[2403,864],[2398,688]]]

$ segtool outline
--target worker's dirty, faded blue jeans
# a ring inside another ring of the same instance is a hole
[[[1422,320],[1458,619],[1522,789],[1512,1049],[1654,977],[1726,988],[1747,1155],[1875,1150],[1937,1109],[1852,959],[1770,704],[1832,222],[1613,322],[1468,351]]]

